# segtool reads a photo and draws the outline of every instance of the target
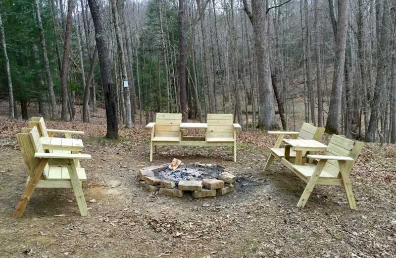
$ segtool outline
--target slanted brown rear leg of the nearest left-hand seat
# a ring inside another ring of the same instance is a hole
[[[37,186],[37,182],[39,182],[39,179],[43,174],[43,170],[47,165],[48,160],[49,160],[48,158],[40,159],[39,164],[34,170],[33,177],[30,179],[29,183],[26,186],[25,192],[23,192],[22,197],[19,200],[18,206],[16,207],[16,210],[13,215],[14,218],[22,217],[23,212],[25,211],[26,206],[28,205],[30,197],[32,197],[33,191]]]

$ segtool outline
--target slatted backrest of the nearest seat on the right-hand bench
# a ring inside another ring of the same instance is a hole
[[[323,155],[351,157],[353,161],[347,161],[346,164],[346,169],[349,173],[352,169],[353,164],[355,164],[355,161],[359,156],[363,145],[363,142],[353,141],[340,135],[333,134]],[[334,177],[341,177],[340,168],[338,166],[337,160],[328,160],[324,169],[332,174]]]

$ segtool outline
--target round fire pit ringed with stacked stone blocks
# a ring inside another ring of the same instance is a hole
[[[180,162],[180,161],[179,161]],[[139,171],[139,184],[149,192],[182,197],[190,191],[193,197],[224,195],[235,190],[237,177],[216,164],[199,162],[183,164],[176,170],[169,164],[150,166]]]

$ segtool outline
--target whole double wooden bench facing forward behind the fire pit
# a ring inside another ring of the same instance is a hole
[[[207,124],[182,123],[182,114],[157,113],[155,123],[149,123],[151,129],[150,161],[152,148],[157,145],[181,146],[232,146],[234,162],[237,162],[236,130],[239,124],[233,124],[232,114],[207,114]],[[198,128],[205,130],[205,137],[183,136],[183,130]]]

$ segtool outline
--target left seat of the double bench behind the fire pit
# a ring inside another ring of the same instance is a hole
[[[181,140],[180,124],[182,114],[157,113],[155,123],[148,123],[146,128],[151,129],[150,161],[152,161],[152,147],[157,145],[175,145]]]

